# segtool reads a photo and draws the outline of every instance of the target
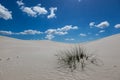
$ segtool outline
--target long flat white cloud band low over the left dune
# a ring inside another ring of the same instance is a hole
[[[42,34],[42,32],[37,30],[24,30],[23,32],[12,32],[12,31],[0,31],[0,34],[3,35],[35,35],[35,34]]]

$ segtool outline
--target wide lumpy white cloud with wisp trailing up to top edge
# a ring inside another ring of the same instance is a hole
[[[39,15],[43,15],[43,14],[45,15],[48,13],[48,11],[45,9],[45,7],[41,7],[41,4],[38,4],[38,5],[32,6],[32,7],[26,7],[22,1],[17,1],[16,3],[18,4],[18,6],[20,6],[20,9],[24,13],[26,13],[32,17],[37,17]]]

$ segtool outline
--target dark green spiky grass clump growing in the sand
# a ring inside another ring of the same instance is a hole
[[[80,67],[82,70],[85,69],[87,64],[97,65],[97,58],[92,54],[88,54],[86,49],[81,46],[75,46],[72,49],[66,49],[60,51],[57,54],[59,68],[70,69],[71,72]]]

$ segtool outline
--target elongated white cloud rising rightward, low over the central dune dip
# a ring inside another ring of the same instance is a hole
[[[69,30],[77,30],[77,29],[78,29],[77,26],[66,25],[62,28],[48,29],[45,31],[45,33],[48,34],[47,36],[52,37],[53,35],[66,35],[66,34],[68,34]],[[54,38],[54,37],[52,37],[52,38]],[[50,39],[52,39],[52,38],[50,38]]]

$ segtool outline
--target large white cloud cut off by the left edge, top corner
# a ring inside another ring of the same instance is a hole
[[[12,19],[12,12],[0,4],[0,18],[5,20]]]

